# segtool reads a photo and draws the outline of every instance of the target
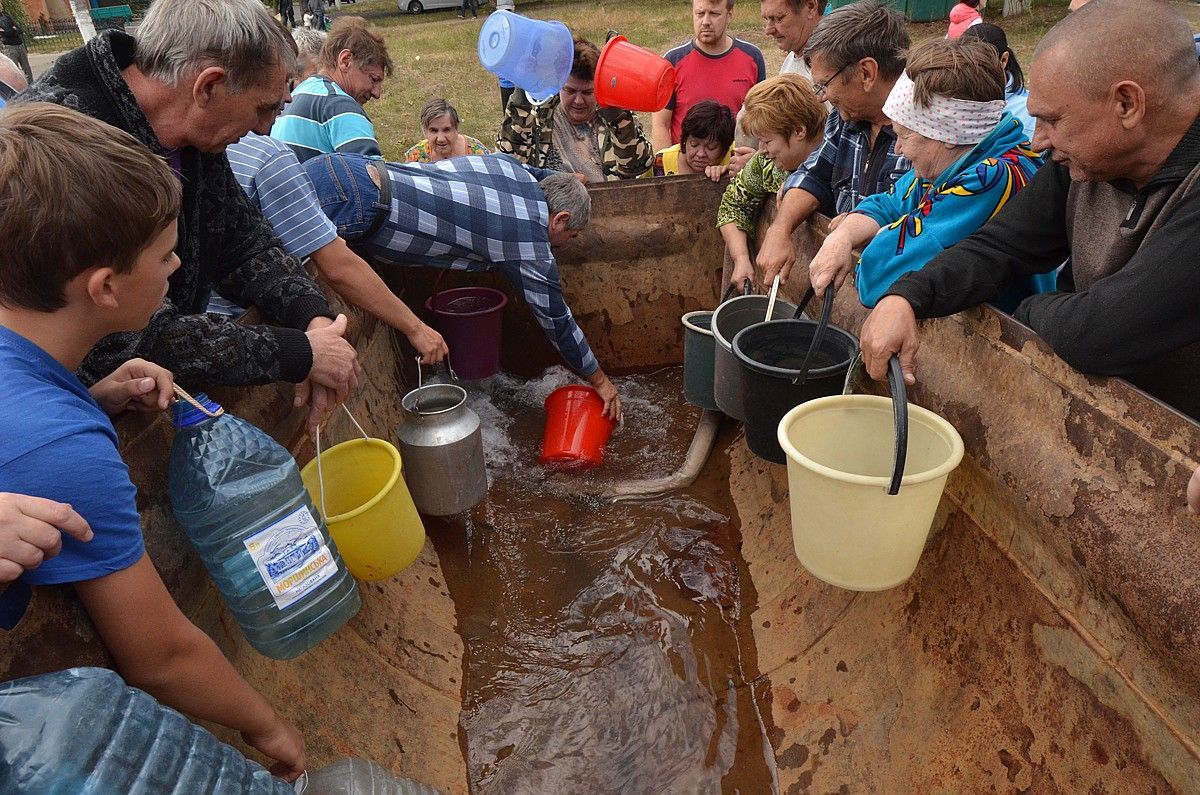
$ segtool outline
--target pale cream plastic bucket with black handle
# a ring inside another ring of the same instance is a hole
[[[962,460],[954,426],[907,404],[902,378],[899,389],[892,381],[900,406],[834,395],[800,404],[779,423],[796,556],[817,579],[851,591],[884,591],[912,575],[946,479]],[[895,443],[901,406],[904,449]]]

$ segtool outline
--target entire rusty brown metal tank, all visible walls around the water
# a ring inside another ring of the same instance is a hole
[[[682,361],[679,315],[722,285],[720,187],[698,177],[589,189],[593,220],[559,256],[566,299],[606,369]],[[655,208],[647,213],[646,208]],[[803,274],[824,234],[794,237]],[[406,275],[406,301],[432,287]],[[504,366],[556,363],[509,293]],[[804,288],[793,276],[786,297]],[[400,420],[397,341],[355,310],[368,373],[353,398],[372,432]],[[857,333],[852,291],[834,323]],[[404,360],[410,360],[404,352]],[[990,309],[923,325],[912,399],[949,419],[966,458],[914,575],[882,593],[809,576],[788,532],[786,476],[732,437],[719,473],[736,503],[756,697],[779,791],[1195,793],[1200,789],[1198,519],[1183,488],[1200,426],[1115,378],[1073,371]],[[301,462],[312,455],[290,389],[218,391]],[[372,759],[445,793],[469,789],[460,735],[463,633],[427,544],[361,612],[296,660],[239,638],[166,506],[166,423],[119,423],[151,557],[175,600],[304,730],[313,766]],[[336,432],[336,429],[335,431]],[[112,660],[67,590],[36,588],[0,640],[0,675]],[[320,688],[311,687],[322,681]],[[239,742],[224,733],[222,739]],[[242,746],[244,747],[244,746]],[[737,782],[728,782],[731,787]]]

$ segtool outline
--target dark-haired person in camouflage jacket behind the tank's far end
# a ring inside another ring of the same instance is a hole
[[[534,168],[583,174],[589,183],[634,179],[654,162],[650,142],[630,110],[596,106],[600,49],[575,37],[571,73],[562,90],[534,103],[516,89],[504,108],[496,149]]]

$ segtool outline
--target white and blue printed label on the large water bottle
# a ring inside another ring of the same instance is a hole
[[[308,508],[301,507],[244,543],[280,610],[337,574],[334,554]]]

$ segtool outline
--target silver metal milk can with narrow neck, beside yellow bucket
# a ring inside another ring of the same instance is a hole
[[[449,516],[474,508],[487,496],[484,434],[467,407],[467,390],[427,384],[404,395],[404,422],[396,431],[404,480],[416,509]]]

